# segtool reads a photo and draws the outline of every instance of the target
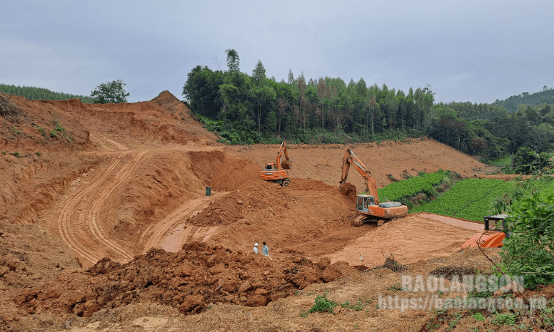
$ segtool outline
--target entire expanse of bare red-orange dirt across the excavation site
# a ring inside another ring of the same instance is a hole
[[[406,173],[494,171],[433,140],[288,145],[283,188],[259,180],[278,145],[222,145],[168,91],[131,104],[9,98],[21,113],[0,117],[0,329],[423,331],[430,312],[376,309],[400,275],[368,269],[391,254],[421,274],[490,266],[458,252],[472,223],[408,214],[350,225],[364,185],[353,172],[350,194],[338,190],[346,148],[378,187]],[[303,318],[326,291],[365,311]]]

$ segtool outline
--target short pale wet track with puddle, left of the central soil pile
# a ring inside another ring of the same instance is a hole
[[[146,254],[151,248],[158,247],[163,242],[164,238],[171,235],[176,227],[183,223],[183,218],[191,217],[193,214],[196,214],[196,212],[204,209],[212,199],[221,197],[225,194],[228,194],[228,192],[218,192],[212,196],[188,200],[156,224],[148,226],[141,235],[137,247],[143,248],[142,254]],[[191,226],[187,225],[187,228],[191,228]],[[203,234],[210,232],[212,228],[213,227],[194,227],[194,229],[189,229],[186,239],[198,239],[203,237]],[[168,234],[168,232],[171,233]]]

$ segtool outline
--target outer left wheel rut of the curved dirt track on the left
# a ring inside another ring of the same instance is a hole
[[[118,157],[116,157],[114,162],[112,162],[111,165],[107,167],[106,172],[104,172],[104,174],[101,175],[98,180],[96,180],[92,185],[89,185],[75,196],[71,195],[70,197],[68,197],[66,201],[61,205],[61,211],[59,212],[58,217],[58,229],[61,239],[63,239],[64,242],[66,242],[66,244],[73,251],[75,251],[78,256],[81,256],[82,258],[86,259],[86,261],[91,262],[91,264],[96,263],[96,261],[105,256],[105,254],[99,250],[91,250],[90,247],[83,244],[86,243],[86,239],[81,239],[81,237],[79,236],[79,230],[76,230],[74,229],[74,227],[72,227],[71,216],[78,204],[86,204],[85,197],[89,193],[96,190],[97,187],[100,187],[106,181],[106,178],[109,177],[114,168],[119,165],[121,160],[126,155],[128,155],[129,152],[130,151],[122,152]],[[78,219],[79,221],[84,222],[82,214],[79,215]],[[79,226],[79,224],[77,224],[76,226]],[[81,231],[84,231],[84,229],[81,229]]]

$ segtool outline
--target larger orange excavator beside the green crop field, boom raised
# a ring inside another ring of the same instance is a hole
[[[354,219],[353,225],[360,227],[364,222],[377,219],[378,225],[383,224],[386,219],[404,217],[408,213],[408,207],[400,202],[379,202],[377,194],[377,184],[375,179],[363,165],[363,163],[354,155],[352,150],[347,149],[343,160],[343,177],[339,182],[341,185],[346,183],[348,170],[353,166],[360,175],[366,180],[366,192],[368,194],[358,194],[356,197],[356,211],[358,217]]]

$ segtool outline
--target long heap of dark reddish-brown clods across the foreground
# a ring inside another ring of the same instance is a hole
[[[169,253],[151,249],[120,265],[101,259],[86,273],[68,272],[15,298],[29,314],[75,313],[151,302],[198,313],[211,304],[265,306],[314,283],[331,282],[356,269],[345,262],[313,264],[306,257],[268,259],[200,242]],[[357,272],[357,271],[356,271]]]

